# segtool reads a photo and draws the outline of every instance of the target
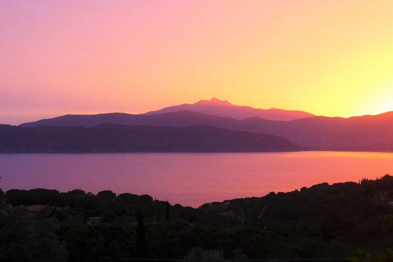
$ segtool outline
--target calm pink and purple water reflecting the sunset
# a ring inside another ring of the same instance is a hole
[[[393,153],[0,154],[5,190],[148,194],[191,205],[393,175]]]

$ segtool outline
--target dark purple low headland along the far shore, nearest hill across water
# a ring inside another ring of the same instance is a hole
[[[0,125],[0,152],[274,152],[299,151],[286,139],[212,126],[95,127]]]

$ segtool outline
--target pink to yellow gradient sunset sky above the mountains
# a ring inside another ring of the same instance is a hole
[[[0,123],[217,97],[393,111],[393,1],[0,1]]]

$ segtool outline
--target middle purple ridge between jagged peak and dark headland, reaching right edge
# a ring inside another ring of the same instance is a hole
[[[291,121],[260,117],[236,120],[196,112],[180,111],[160,115],[66,115],[21,126],[86,126],[101,123],[153,126],[211,125],[259,134],[272,134],[314,150],[393,151],[393,112],[350,118],[314,116]]]

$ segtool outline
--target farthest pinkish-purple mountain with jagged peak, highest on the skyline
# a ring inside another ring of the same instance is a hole
[[[290,111],[283,109],[256,109],[249,106],[236,106],[228,101],[212,98],[210,100],[200,100],[194,104],[182,104],[178,106],[170,106],[157,111],[145,113],[145,115],[157,115],[178,111],[193,111],[197,113],[231,117],[237,120],[257,116],[269,120],[293,120],[304,117],[314,116],[303,111]]]

